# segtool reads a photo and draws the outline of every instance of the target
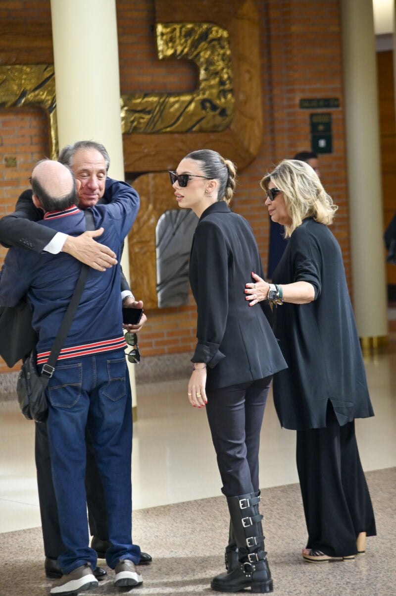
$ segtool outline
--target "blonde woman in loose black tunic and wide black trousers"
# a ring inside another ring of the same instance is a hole
[[[273,221],[289,238],[274,284],[247,283],[249,306],[270,300],[288,368],[274,377],[282,428],[297,430],[297,469],[311,563],[353,559],[376,534],[355,418],[373,416],[341,248],[336,205],[307,164],[283,160],[261,180]]]

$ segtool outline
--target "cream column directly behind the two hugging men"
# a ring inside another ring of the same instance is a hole
[[[90,139],[110,155],[109,174],[124,179],[116,0],[51,0],[60,148]],[[121,259],[129,280],[128,243]],[[136,386],[129,364],[136,418]]]

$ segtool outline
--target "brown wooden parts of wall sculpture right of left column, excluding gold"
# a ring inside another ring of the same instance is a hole
[[[193,21],[198,26],[208,14],[208,3],[155,0],[157,21]],[[257,156],[263,141],[260,75],[260,24],[254,2],[210,2],[211,18],[229,33],[232,48],[233,119],[222,131],[136,133],[124,135],[126,172],[160,172],[141,175],[133,182],[141,196],[138,217],[129,234],[130,279],[135,296],[145,308],[157,308],[155,228],[167,209],[177,209],[169,175],[194,149],[211,148],[238,164],[242,170]],[[157,42],[158,44],[158,42]],[[163,55],[165,58],[166,55]]]

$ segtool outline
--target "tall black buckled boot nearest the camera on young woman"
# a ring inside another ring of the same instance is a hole
[[[261,527],[263,516],[258,513],[260,491],[247,495],[227,496],[233,532],[238,547],[238,565],[216,576],[211,588],[219,592],[239,592],[250,588],[255,594],[273,591],[273,581],[264,551]]]

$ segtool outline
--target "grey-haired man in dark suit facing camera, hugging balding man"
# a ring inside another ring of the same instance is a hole
[[[60,154],[59,161],[68,165],[80,181],[79,206],[82,209],[96,203],[111,203],[123,195],[130,197],[134,203],[135,217],[139,209],[139,196],[126,182],[107,177],[110,158],[104,146],[93,141],[80,141],[68,145]],[[0,220],[0,242],[6,246],[20,246],[33,252],[59,253],[66,252],[87,263],[94,269],[105,271],[113,266],[116,254],[113,250],[96,242],[103,229],[85,232],[79,237],[56,232],[37,222],[42,219],[43,212],[37,209],[32,201],[32,191],[26,190],[20,195],[15,212]],[[142,308],[142,301],[135,300],[126,279],[121,275],[121,299],[123,306]],[[128,331],[138,331],[146,318],[142,315],[137,326],[128,326]],[[45,550],[45,572],[48,577],[58,578],[61,569],[57,558],[63,552],[64,545],[58,523],[57,502],[52,485],[51,458],[48,449],[46,425],[36,424],[36,467],[40,514],[42,519],[43,541]],[[91,440],[87,441],[86,495],[89,512],[92,548],[104,557],[108,544],[108,521],[105,508],[104,491],[98,468],[93,455]],[[151,556],[141,553],[141,564],[149,563]],[[97,567],[96,577],[106,574]]]

